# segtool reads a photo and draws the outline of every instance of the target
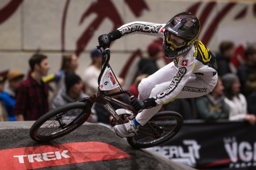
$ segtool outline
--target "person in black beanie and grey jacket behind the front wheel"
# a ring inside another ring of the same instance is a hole
[[[57,96],[53,99],[52,108],[55,109],[67,103],[77,102],[84,97],[89,97],[82,92],[83,83],[81,78],[74,73],[65,75],[65,86],[63,86]],[[94,110],[92,110],[93,113]],[[96,123],[98,117],[96,114],[91,114],[87,121]]]

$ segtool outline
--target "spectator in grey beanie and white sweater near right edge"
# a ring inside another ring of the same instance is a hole
[[[224,101],[230,110],[229,120],[246,120],[251,125],[254,125],[256,116],[247,112],[247,101],[244,95],[240,93],[241,84],[238,76],[233,73],[227,73],[221,76],[221,80],[225,87],[224,95],[226,97]]]

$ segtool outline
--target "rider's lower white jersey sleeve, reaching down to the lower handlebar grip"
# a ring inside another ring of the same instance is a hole
[[[196,65],[196,59],[194,58],[179,58],[178,71],[173,77],[170,86],[162,93],[153,97],[155,99],[156,105],[164,105],[176,99],[184,85],[189,80],[189,77],[195,69]]]

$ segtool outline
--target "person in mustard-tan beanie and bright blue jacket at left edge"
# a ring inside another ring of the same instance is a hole
[[[24,74],[18,70],[12,70],[7,75],[7,80],[9,86],[4,89],[4,92],[0,94],[0,99],[5,106],[5,109],[8,113],[9,121],[16,121],[13,111],[15,106],[15,91],[18,88],[18,85],[22,82]]]

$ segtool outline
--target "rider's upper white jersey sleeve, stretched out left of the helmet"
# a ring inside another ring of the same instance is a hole
[[[144,34],[148,36],[155,36],[159,38],[164,37],[165,33],[165,24],[155,24],[151,22],[141,22],[141,21],[136,21],[136,22],[131,22],[128,24],[125,24],[118,28],[122,34],[122,37],[126,37],[129,35],[133,34]]]

